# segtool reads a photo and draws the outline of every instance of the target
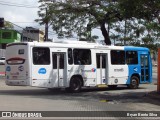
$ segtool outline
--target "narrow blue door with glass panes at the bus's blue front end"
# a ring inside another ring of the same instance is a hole
[[[141,82],[149,81],[149,58],[147,54],[141,54]]]

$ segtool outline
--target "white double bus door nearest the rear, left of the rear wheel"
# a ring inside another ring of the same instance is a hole
[[[66,61],[65,53],[52,53],[52,63],[53,63],[53,87],[63,87],[65,85]]]

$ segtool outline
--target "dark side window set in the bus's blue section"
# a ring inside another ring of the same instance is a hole
[[[126,63],[127,64],[138,64],[137,51],[127,51],[126,52]]]

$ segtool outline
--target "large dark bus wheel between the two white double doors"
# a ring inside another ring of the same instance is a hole
[[[73,77],[70,82],[70,91],[71,92],[80,92],[82,87],[82,82],[79,77]]]

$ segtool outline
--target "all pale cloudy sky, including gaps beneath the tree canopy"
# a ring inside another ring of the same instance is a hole
[[[5,21],[12,22],[22,28],[34,27],[44,30],[34,20],[38,18],[39,0],[0,0],[0,17]],[[103,39],[100,30],[93,30],[92,34],[99,34],[99,39]],[[49,29],[49,38],[57,39],[55,33]],[[76,38],[74,38],[76,39]]]

